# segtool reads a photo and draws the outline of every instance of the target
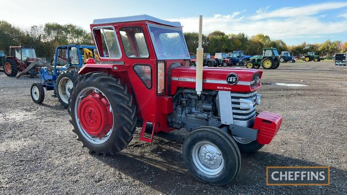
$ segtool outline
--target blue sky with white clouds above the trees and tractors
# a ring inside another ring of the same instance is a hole
[[[347,0],[0,0],[0,7],[0,20],[21,28],[56,22],[89,31],[93,19],[148,14],[197,32],[203,15],[204,34],[263,33],[288,45],[347,42]]]

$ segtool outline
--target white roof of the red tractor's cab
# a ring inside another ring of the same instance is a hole
[[[119,22],[134,22],[134,21],[151,21],[159,24],[164,24],[173,27],[182,27],[180,22],[170,22],[167,20],[162,20],[159,18],[155,18],[149,15],[134,15],[127,17],[118,17],[118,18],[105,18],[105,19],[95,19],[93,24],[108,24],[108,23],[119,23]]]

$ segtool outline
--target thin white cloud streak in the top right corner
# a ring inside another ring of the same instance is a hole
[[[256,15],[251,16],[252,20],[261,20],[266,18],[278,17],[302,17],[317,14],[324,10],[337,9],[347,7],[347,2],[328,2],[313,5],[306,5],[302,7],[283,7],[274,11],[267,11],[269,6],[260,8],[256,11]]]

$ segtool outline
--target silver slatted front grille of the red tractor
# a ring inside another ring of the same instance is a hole
[[[232,117],[235,124],[238,123],[241,126],[250,126],[250,120],[254,121],[256,98],[256,91],[250,93],[231,93]],[[240,108],[240,99],[251,100],[253,108]]]

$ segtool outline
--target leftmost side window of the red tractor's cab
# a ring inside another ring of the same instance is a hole
[[[113,27],[101,27],[93,30],[99,55],[103,58],[120,58],[118,40]]]

